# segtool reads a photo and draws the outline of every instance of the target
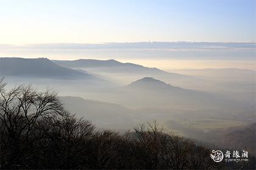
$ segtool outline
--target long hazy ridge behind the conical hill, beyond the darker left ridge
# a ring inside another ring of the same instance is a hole
[[[196,77],[182,75],[179,73],[165,72],[155,67],[144,67],[139,64],[121,63],[116,60],[53,60],[55,64],[71,69],[84,69],[90,73],[101,75],[124,86],[141,77],[155,77],[176,86],[198,82]]]

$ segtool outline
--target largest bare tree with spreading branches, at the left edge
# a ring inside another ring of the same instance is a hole
[[[6,92],[4,87],[1,80],[1,165],[12,168],[20,166],[29,146],[54,126],[53,121],[62,115],[63,107],[55,92],[40,93],[30,86],[18,86]],[[37,132],[39,120],[49,123],[40,133]]]

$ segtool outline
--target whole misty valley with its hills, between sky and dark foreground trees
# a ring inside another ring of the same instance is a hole
[[[7,89],[58,92],[65,109],[98,129],[132,131],[157,121],[166,133],[255,154],[255,71],[166,72],[116,60],[0,58]]]

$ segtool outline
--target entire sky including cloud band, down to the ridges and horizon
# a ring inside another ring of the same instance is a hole
[[[0,57],[256,70],[255,30],[255,0],[0,0]]]

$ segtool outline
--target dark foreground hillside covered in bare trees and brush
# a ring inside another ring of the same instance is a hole
[[[210,158],[210,149],[157,124],[118,134],[66,112],[54,92],[0,82],[1,169],[255,169]]]

